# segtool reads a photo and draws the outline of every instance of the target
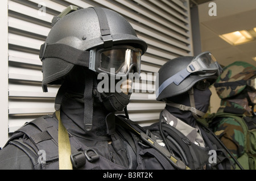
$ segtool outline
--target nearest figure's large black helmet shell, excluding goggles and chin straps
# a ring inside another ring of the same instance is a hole
[[[74,65],[89,68],[90,50],[130,45],[146,52],[147,44],[139,39],[123,16],[109,9],[77,9],[63,18],[55,17],[46,43],[41,46],[43,86],[60,85]],[[140,62],[139,62],[140,63]],[[47,91],[47,89],[46,89]]]

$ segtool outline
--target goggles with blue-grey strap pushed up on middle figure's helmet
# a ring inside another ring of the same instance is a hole
[[[201,77],[207,77],[210,75],[216,74],[219,76],[223,72],[220,64],[213,57],[210,52],[200,53],[198,56],[194,57],[191,63],[183,70],[172,75],[166,81],[159,86],[159,89],[156,91],[158,96],[168,85],[175,83],[177,86],[190,74],[196,74]]]

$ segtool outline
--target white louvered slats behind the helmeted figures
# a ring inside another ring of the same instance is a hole
[[[42,91],[42,62],[38,54],[51,30],[53,16],[69,5],[101,6],[125,16],[138,37],[148,44],[141,65],[145,74],[158,72],[166,61],[193,52],[188,0],[13,0],[8,3],[9,133],[27,121],[54,111],[58,87]],[[127,107],[130,119],[141,125],[158,121],[164,108],[164,103],[150,99],[154,87],[147,88],[146,79],[142,79],[140,88],[134,85],[134,89],[141,92],[131,95]]]

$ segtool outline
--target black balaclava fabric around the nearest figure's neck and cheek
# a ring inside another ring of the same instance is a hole
[[[106,110],[97,94],[93,94],[93,116],[92,129],[86,131],[84,127],[84,91],[86,87],[86,77],[84,68],[76,67],[75,74],[69,74],[65,83],[67,90],[61,102],[61,120],[67,130],[73,135],[85,138],[86,140],[103,141],[110,140],[110,135],[114,133],[114,114]],[[93,89],[97,87],[97,74],[93,74]]]

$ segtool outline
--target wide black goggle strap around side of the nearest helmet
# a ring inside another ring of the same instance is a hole
[[[39,58],[60,58],[71,64],[89,66],[90,52],[82,51],[65,44],[42,44]]]

